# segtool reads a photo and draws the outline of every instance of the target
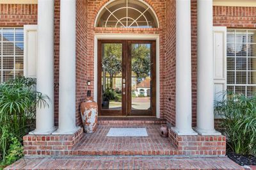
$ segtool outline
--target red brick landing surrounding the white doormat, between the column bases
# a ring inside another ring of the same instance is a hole
[[[111,127],[145,127],[148,137],[107,137]],[[177,155],[170,140],[160,136],[161,125],[99,125],[72,150],[73,155]]]

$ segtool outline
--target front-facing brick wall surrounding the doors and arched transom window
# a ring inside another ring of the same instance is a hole
[[[159,54],[159,68],[160,68],[160,117],[163,118],[164,112],[164,45],[165,45],[165,1],[164,0],[145,0],[156,12],[156,15],[159,19],[159,28],[104,28],[104,27],[94,27],[95,19],[100,8],[104,4],[108,3],[109,0],[99,1],[99,0],[88,0],[88,79],[91,81],[91,84],[94,84],[94,35],[99,33],[104,34],[156,34],[160,38],[160,54]],[[93,85],[89,86],[88,89],[93,91]]]

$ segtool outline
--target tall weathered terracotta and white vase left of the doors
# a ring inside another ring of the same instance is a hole
[[[97,128],[98,105],[93,100],[86,100],[80,106],[81,118],[86,133],[93,133]]]

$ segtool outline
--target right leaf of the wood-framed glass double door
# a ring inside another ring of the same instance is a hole
[[[128,58],[131,58],[131,116],[155,114],[155,42],[129,41]]]

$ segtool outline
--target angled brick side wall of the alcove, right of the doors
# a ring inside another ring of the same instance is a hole
[[[176,3],[166,1],[165,70],[164,70],[164,118],[175,125],[175,31]]]

